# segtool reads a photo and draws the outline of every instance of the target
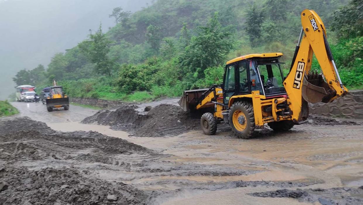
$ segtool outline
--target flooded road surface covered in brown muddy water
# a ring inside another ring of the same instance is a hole
[[[160,159],[150,161],[136,156],[144,163],[151,163],[145,165],[147,174],[121,172],[116,168],[93,173],[142,190],[162,190],[164,194],[156,196],[154,204],[320,204],[314,200],[256,197],[250,193],[277,189],[362,189],[363,186],[362,125],[305,124],[280,133],[266,128],[249,140],[237,139],[228,130],[212,136],[196,130],[175,137],[141,138],[107,126],[79,123],[96,110],[71,105],[69,111],[48,112],[41,103],[13,105],[20,115],[45,122],[53,130],[97,131],[163,154]],[[166,164],[158,164],[161,162]],[[199,174],[192,174],[193,170]],[[256,185],[236,185],[240,180]],[[268,185],[261,186],[265,181]],[[363,198],[359,194],[355,197]]]

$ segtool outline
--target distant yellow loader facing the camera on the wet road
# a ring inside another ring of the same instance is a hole
[[[45,100],[48,112],[52,112],[53,108],[61,107],[64,107],[64,110],[69,110],[69,98],[64,94],[63,87],[57,86],[56,80],[53,80],[53,86],[49,89],[50,95]]]

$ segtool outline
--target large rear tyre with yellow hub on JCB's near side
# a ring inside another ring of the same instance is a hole
[[[238,138],[250,138],[256,128],[253,105],[245,101],[233,103],[229,110],[229,124]]]

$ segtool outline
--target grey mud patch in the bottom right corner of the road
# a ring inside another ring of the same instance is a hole
[[[310,202],[321,204],[354,204],[363,205],[360,198],[363,195],[362,189],[354,189],[348,187],[331,188],[331,189],[279,189],[270,192],[260,192],[249,194],[257,197],[289,197],[296,198],[300,202]]]

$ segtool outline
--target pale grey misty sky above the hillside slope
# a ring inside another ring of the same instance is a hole
[[[46,67],[57,52],[87,38],[102,22],[115,23],[112,9],[135,12],[151,0],[0,0],[0,99],[15,91],[12,77],[21,69]]]

